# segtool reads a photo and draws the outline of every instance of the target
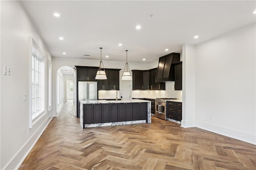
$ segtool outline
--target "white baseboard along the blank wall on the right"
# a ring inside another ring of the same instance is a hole
[[[231,138],[242,140],[251,144],[256,144],[256,134],[236,130],[233,128],[214,125],[207,122],[196,121],[196,127],[208,130],[214,133],[222,134]]]

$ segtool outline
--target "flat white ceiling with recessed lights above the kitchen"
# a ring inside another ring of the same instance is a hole
[[[22,4],[52,57],[99,60],[99,47],[103,47],[102,60],[125,61],[128,49],[128,62],[150,63],[165,54],[181,52],[184,43],[204,42],[256,22],[256,14],[252,14],[256,10],[255,1],[22,1]],[[54,12],[60,17],[53,16]],[[140,30],[135,28],[137,25]],[[194,39],[195,35],[199,38]]]

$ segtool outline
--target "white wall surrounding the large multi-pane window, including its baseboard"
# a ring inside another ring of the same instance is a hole
[[[16,169],[52,118],[52,112],[48,111],[46,104],[46,115],[32,128],[29,128],[29,61],[31,56],[29,56],[28,37],[34,38],[44,51],[46,63],[48,63],[48,60],[51,61],[51,56],[20,1],[1,1],[0,8],[0,169]],[[10,67],[10,76],[3,74],[3,65]],[[47,72],[46,77],[48,79]],[[48,87],[47,84],[46,87]],[[45,89],[46,96],[47,91]],[[23,101],[24,94],[26,95],[26,101]]]

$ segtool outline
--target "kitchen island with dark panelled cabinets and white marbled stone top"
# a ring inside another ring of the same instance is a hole
[[[79,101],[82,128],[151,123],[151,102],[140,99]]]

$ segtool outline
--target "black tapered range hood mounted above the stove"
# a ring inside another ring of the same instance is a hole
[[[180,61],[180,53],[170,53],[159,58],[156,82],[174,81],[174,65]]]

